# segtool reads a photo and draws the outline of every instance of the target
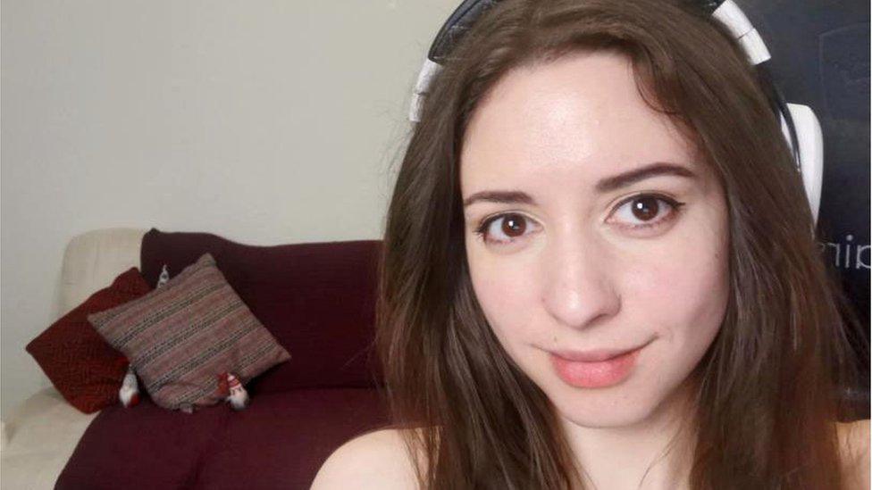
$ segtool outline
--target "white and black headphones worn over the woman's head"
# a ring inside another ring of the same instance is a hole
[[[449,20],[442,26],[430,51],[424,58],[415,90],[412,93],[412,103],[409,109],[409,120],[420,120],[423,97],[427,95],[433,76],[442,68],[438,61],[447,54],[457,42],[457,38],[478,19],[484,11],[499,0],[465,0],[463,4],[451,13]],[[781,120],[781,130],[787,145],[790,146],[796,169],[802,177],[802,186],[809,199],[811,214],[818,222],[820,209],[820,192],[824,179],[824,135],[815,112],[808,105],[785,103],[774,81],[769,78],[764,62],[772,56],[757,29],[751,25],[739,5],[734,0],[723,2],[702,0],[702,8],[720,21],[738,40],[742,50],[752,65],[757,67],[763,79],[767,79],[772,87],[774,100],[772,103],[776,115]]]

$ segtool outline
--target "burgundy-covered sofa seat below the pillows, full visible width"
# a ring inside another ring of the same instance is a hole
[[[370,388],[260,394],[245,411],[226,405],[191,416],[146,400],[103,411],[67,462],[56,489],[306,489],[341,444],[387,423]]]

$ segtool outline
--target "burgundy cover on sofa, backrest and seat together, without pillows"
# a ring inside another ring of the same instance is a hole
[[[380,241],[256,246],[152,228],[140,270],[155,287],[164,263],[172,276],[206,252],[291,359],[246,386],[244,411],[186,414],[147,396],[104,409],[55,488],[303,489],[340,444],[388,424],[373,352]]]

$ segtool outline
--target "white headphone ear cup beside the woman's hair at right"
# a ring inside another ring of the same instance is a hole
[[[781,115],[781,130],[793,154],[799,155],[802,187],[809,199],[811,214],[818,222],[821,187],[824,181],[824,133],[815,112],[808,105],[787,103],[793,127],[796,130],[798,148],[793,147],[790,130],[784,115]]]

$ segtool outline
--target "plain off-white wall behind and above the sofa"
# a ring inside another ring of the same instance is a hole
[[[88,229],[381,237],[411,88],[459,0],[4,0],[0,416],[49,381]],[[121,271],[119,271],[121,272]]]

